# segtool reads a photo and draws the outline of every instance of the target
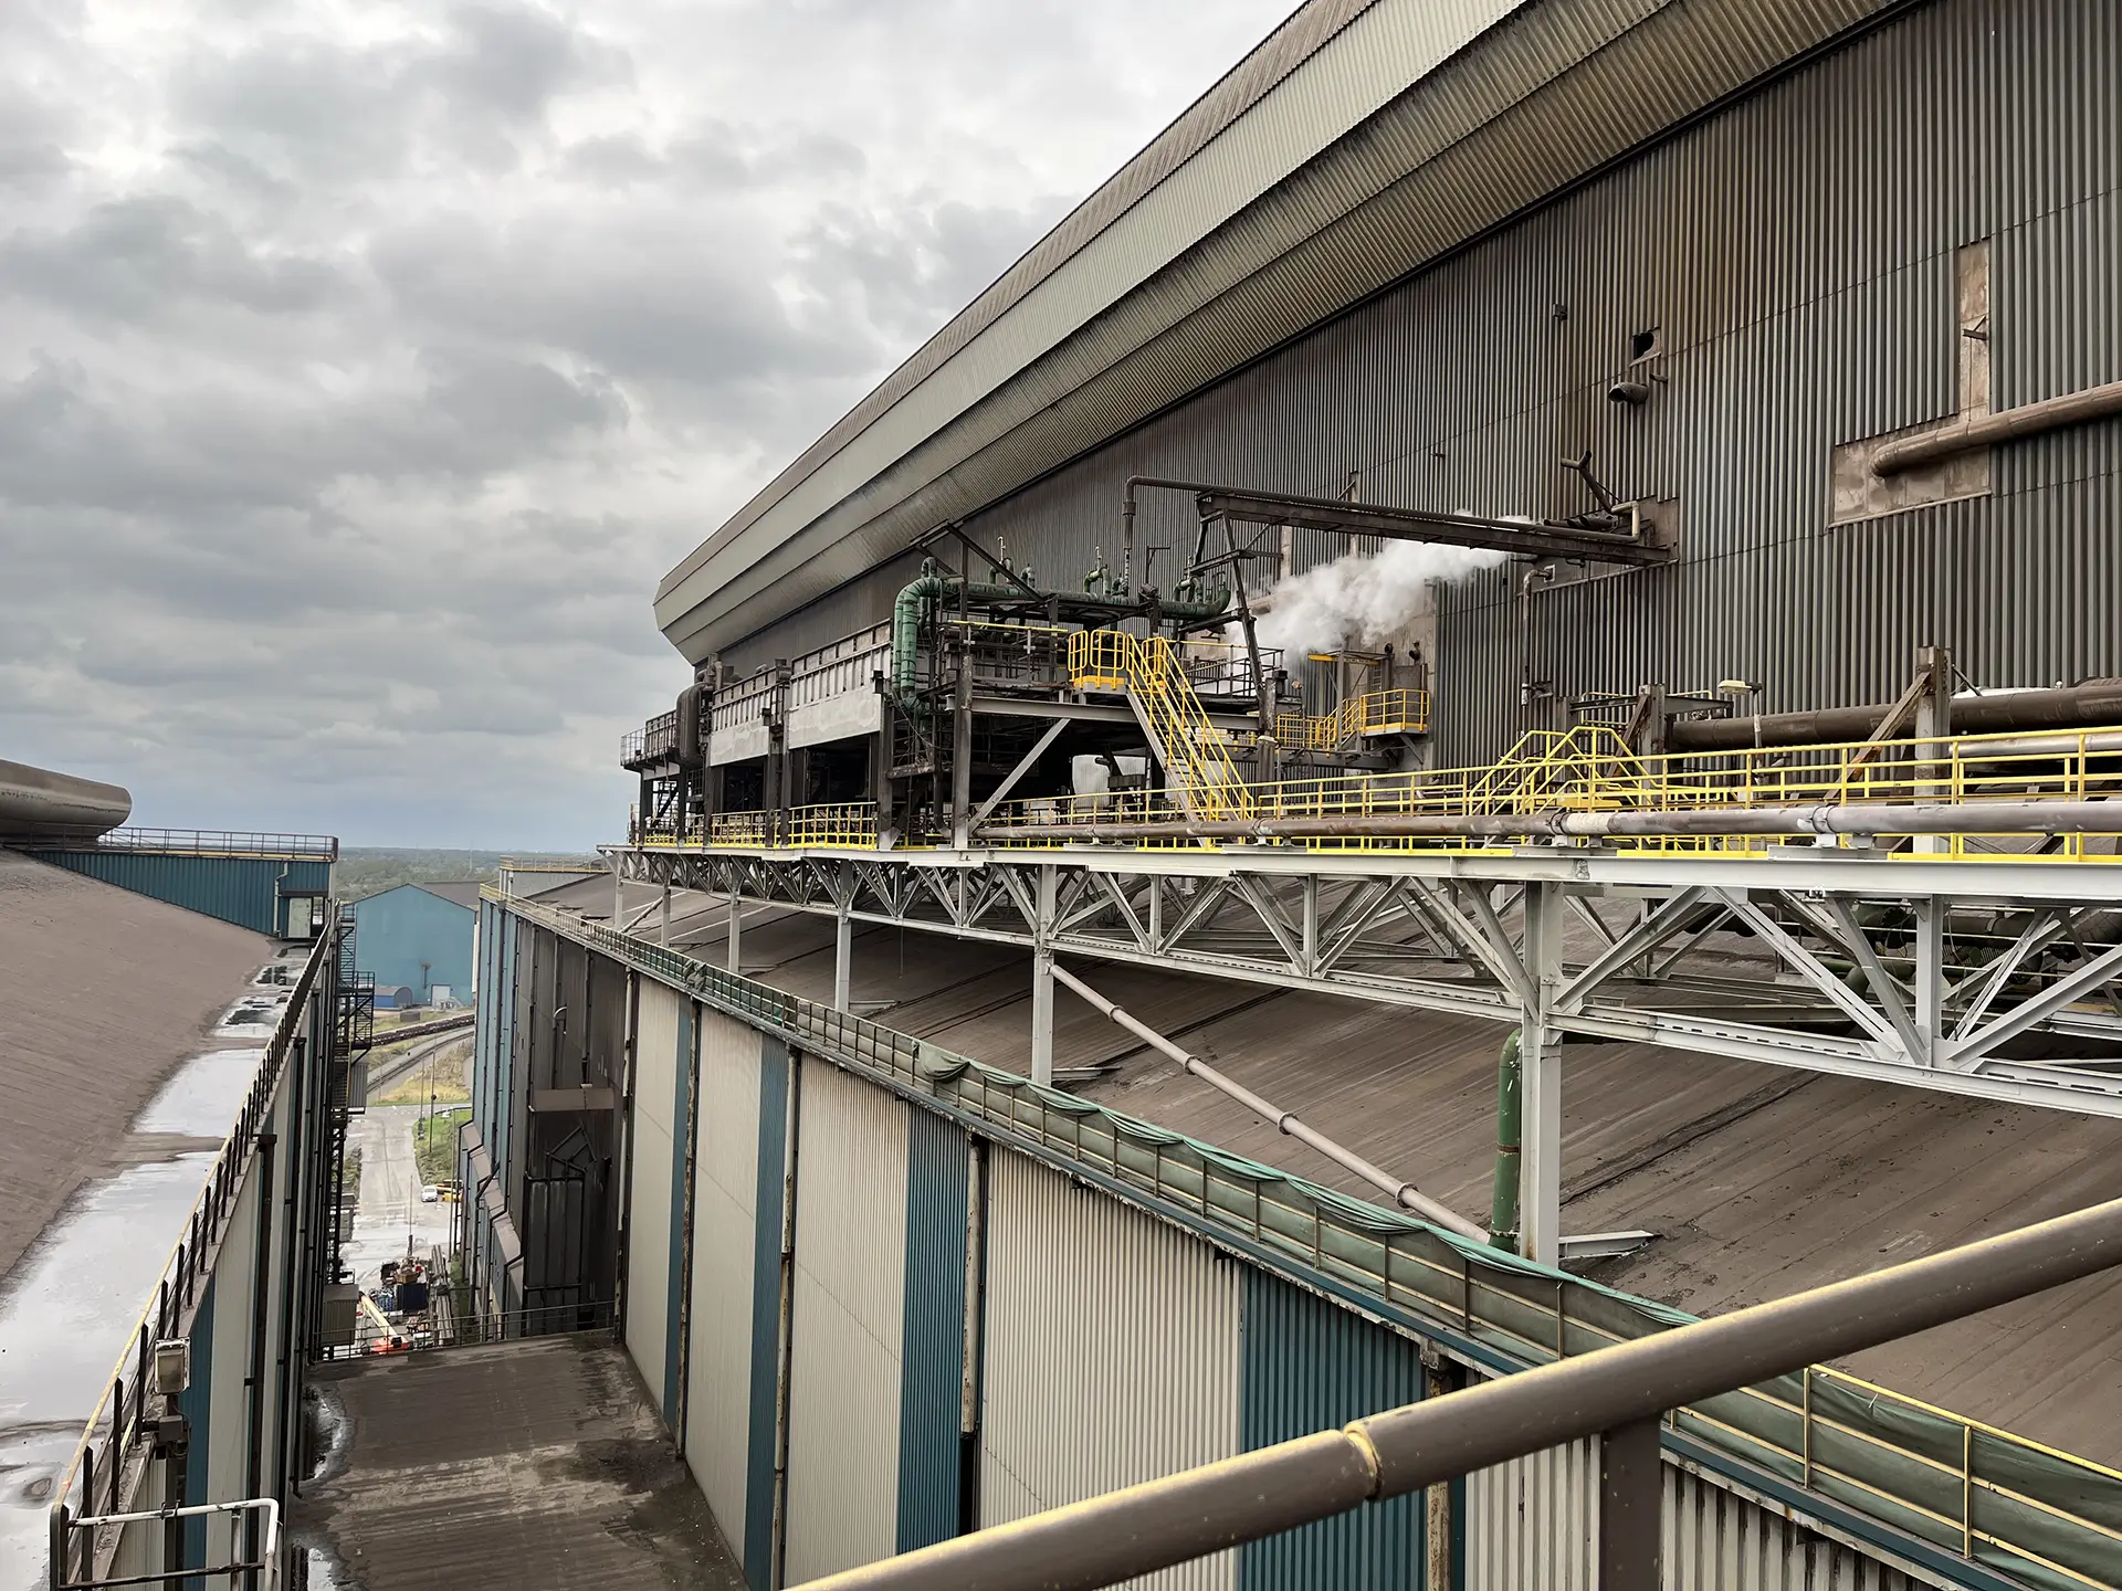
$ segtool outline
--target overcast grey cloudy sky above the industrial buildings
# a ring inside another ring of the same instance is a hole
[[[0,0],[0,757],[581,849],[656,579],[1290,0]]]

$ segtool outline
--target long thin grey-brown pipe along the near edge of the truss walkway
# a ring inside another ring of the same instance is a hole
[[[1749,834],[2122,834],[2116,802],[1850,802],[1628,812],[1341,812],[987,827],[987,840],[1606,840]]]

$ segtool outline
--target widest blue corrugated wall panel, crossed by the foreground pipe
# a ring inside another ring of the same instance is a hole
[[[1239,1443],[1246,1451],[1422,1398],[1415,1343],[1246,1266]],[[1239,1549],[1239,1591],[1422,1591],[1420,1496],[1394,1498]]]

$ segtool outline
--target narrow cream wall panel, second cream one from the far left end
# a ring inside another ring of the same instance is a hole
[[[760,1179],[760,1035],[700,1012],[700,1152],[692,1179],[685,1464],[745,1555],[751,1438],[751,1256]]]

